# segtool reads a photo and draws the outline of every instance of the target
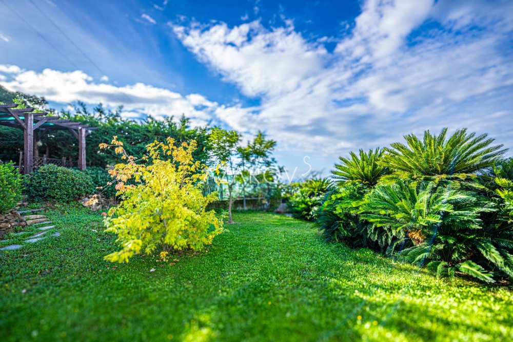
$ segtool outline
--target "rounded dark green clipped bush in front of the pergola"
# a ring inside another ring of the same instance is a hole
[[[91,177],[77,169],[47,164],[25,176],[25,193],[30,199],[70,202],[94,191]]]

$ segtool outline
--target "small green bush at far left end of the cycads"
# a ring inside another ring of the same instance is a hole
[[[299,190],[288,201],[292,213],[305,220],[314,220],[330,187],[331,181],[327,178],[314,178],[301,183]]]

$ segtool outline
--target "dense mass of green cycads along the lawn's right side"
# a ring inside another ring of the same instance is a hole
[[[466,129],[405,139],[340,158],[336,183],[313,214],[325,238],[398,256],[439,277],[513,279],[513,159]]]

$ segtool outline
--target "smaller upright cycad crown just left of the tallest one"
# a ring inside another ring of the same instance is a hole
[[[388,168],[381,164],[383,150],[370,149],[367,153],[360,149],[357,155],[350,153],[350,158],[339,157],[340,164],[335,164],[331,173],[339,183],[356,181],[371,187],[378,183],[381,176],[388,174]]]

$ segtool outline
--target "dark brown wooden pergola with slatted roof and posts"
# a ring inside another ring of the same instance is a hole
[[[15,103],[0,104],[0,125],[23,129],[24,174],[29,174],[34,169],[34,146],[37,144],[34,132],[37,129],[69,130],[78,139],[78,168],[86,169],[86,137],[97,127],[64,120],[58,116],[48,116],[45,112],[34,112],[34,108],[15,109],[17,106]]]

